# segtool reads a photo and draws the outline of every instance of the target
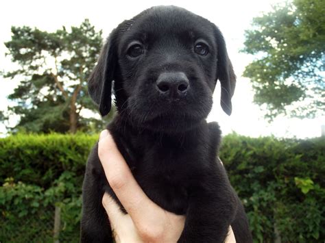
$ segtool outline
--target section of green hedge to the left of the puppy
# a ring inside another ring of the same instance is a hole
[[[26,135],[0,139],[0,242],[51,242],[61,208],[61,242],[78,242],[82,180],[98,136]]]

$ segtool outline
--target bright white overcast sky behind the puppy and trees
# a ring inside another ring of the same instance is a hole
[[[321,125],[325,125],[325,116],[315,119],[278,117],[267,123],[263,112],[253,103],[254,92],[248,78],[242,77],[243,70],[253,58],[240,53],[243,48],[244,31],[250,29],[252,18],[272,10],[272,5],[283,0],[227,0],[227,1],[84,1],[84,0],[10,0],[0,2],[0,71],[14,68],[10,57],[5,57],[7,49],[3,42],[10,40],[11,26],[37,27],[44,31],[56,31],[65,27],[79,26],[88,18],[97,30],[103,30],[103,37],[117,27],[123,20],[132,18],[139,12],[154,5],[178,5],[182,8],[208,18],[221,29],[226,39],[228,54],[237,75],[237,86],[232,98],[232,115],[227,116],[219,105],[220,87],[217,86],[213,97],[213,110],[208,121],[217,121],[224,134],[235,131],[245,136],[277,136],[312,138],[320,136]],[[17,80],[3,79],[0,76],[0,110],[5,110],[10,102],[7,97],[12,93]],[[219,84],[219,82],[218,82]],[[14,123],[16,118],[12,119]],[[0,134],[6,133],[0,124]]]

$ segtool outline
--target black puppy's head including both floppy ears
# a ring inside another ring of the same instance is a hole
[[[173,6],[154,7],[124,21],[101,50],[88,91],[102,116],[111,108],[133,125],[184,131],[200,123],[221,82],[221,107],[231,114],[236,77],[219,29]]]

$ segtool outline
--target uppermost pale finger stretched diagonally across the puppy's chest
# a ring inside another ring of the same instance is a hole
[[[102,133],[98,154],[108,183],[134,222],[139,222],[150,214],[153,207],[158,206],[147,197],[134,179],[110,133]]]

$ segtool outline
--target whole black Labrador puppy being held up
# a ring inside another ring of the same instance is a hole
[[[154,7],[124,21],[101,51],[88,90],[102,116],[110,112],[112,81],[117,116],[108,125],[143,191],[169,212],[186,215],[178,242],[252,242],[248,220],[217,159],[221,132],[206,123],[213,90],[231,113],[235,76],[219,29],[182,8]],[[83,187],[82,242],[112,242],[101,205],[117,201],[97,155],[88,159]]]

